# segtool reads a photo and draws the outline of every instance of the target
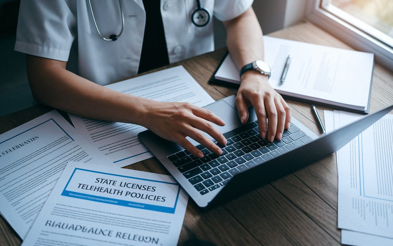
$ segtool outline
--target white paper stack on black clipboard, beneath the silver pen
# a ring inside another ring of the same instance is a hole
[[[366,111],[374,54],[263,36],[264,61],[272,68],[269,84],[278,93]],[[280,79],[286,58],[292,62],[285,83]],[[215,74],[240,84],[239,69],[228,55]],[[348,92],[351,93],[348,93]]]

